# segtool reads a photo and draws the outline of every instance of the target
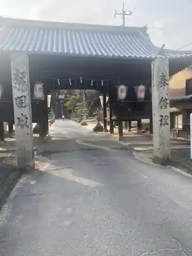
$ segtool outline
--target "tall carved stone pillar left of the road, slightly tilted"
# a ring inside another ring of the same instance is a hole
[[[11,77],[17,161],[22,170],[34,168],[33,126],[28,56],[25,53],[11,53]]]

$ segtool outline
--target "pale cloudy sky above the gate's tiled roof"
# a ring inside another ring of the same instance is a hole
[[[192,50],[192,0],[125,0],[126,26],[143,27],[156,46]],[[0,0],[0,15],[27,19],[102,25],[122,24],[114,19],[123,0]]]

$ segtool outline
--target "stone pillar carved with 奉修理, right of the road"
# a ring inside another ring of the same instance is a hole
[[[159,163],[170,159],[170,114],[168,59],[152,62],[152,103],[154,158]]]

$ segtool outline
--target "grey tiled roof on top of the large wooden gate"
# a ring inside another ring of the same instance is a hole
[[[2,18],[0,50],[114,58],[155,58],[146,28],[65,24]],[[167,57],[192,56],[192,52],[164,51]]]

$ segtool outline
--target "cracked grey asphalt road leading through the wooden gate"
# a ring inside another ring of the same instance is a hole
[[[56,121],[0,216],[1,256],[192,255],[192,179]]]

